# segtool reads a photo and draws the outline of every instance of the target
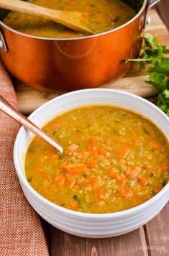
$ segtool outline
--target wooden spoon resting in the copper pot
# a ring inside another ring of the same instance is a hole
[[[43,19],[50,19],[78,32],[95,35],[95,32],[86,27],[85,13],[83,12],[57,11],[20,0],[0,0],[0,7],[14,12],[31,14]]]

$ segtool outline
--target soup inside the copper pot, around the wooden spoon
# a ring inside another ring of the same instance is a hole
[[[87,12],[84,19],[97,34],[119,27],[136,14],[131,6],[120,0],[34,0],[32,3],[57,10]],[[37,37],[84,36],[55,22],[18,12],[10,12],[3,22],[12,29]]]

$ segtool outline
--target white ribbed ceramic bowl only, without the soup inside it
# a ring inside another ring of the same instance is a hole
[[[43,127],[58,114],[86,105],[112,105],[143,114],[160,127],[169,140],[169,119],[149,101],[131,93],[109,89],[87,89],[59,96],[39,107],[29,116],[39,127]],[[84,214],[64,209],[39,195],[29,185],[24,174],[24,157],[32,134],[21,127],[14,145],[16,172],[29,203],[46,221],[58,229],[79,237],[113,237],[139,228],[153,219],[169,199],[169,183],[153,198],[140,206],[112,214]]]

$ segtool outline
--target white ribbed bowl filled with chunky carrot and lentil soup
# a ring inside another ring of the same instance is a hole
[[[14,165],[29,203],[79,237],[113,237],[153,219],[169,198],[169,119],[110,89],[59,96],[29,116],[64,153],[21,127]]]

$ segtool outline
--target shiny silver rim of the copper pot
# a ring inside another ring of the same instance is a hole
[[[146,5],[148,4],[148,0],[144,0],[143,1],[143,5],[142,7],[140,8],[140,11],[137,12],[137,14],[132,17],[132,19],[130,19],[128,22],[126,22],[125,24],[122,24],[120,27],[116,27],[115,29],[111,29],[111,30],[108,30],[106,32],[102,32],[100,34],[96,34],[96,35],[89,35],[89,36],[86,36],[86,37],[72,37],[72,38],[49,38],[49,37],[36,37],[34,35],[28,35],[28,34],[25,34],[25,33],[22,33],[22,32],[19,32],[15,29],[12,29],[11,27],[7,26],[6,24],[4,24],[4,22],[2,22],[0,20],[0,25],[2,27],[5,27],[6,29],[9,29],[11,32],[14,32],[18,35],[22,35],[22,36],[25,36],[25,37],[29,37],[29,38],[33,38],[33,39],[38,39],[38,40],[48,40],[48,41],[53,41],[53,40],[57,40],[57,41],[74,41],[74,40],[85,40],[85,39],[89,39],[89,38],[93,38],[93,37],[98,37],[98,36],[102,36],[102,35],[107,35],[111,32],[115,32],[117,31],[118,29],[122,29],[123,27],[126,27],[128,24],[132,23],[135,21],[135,19],[137,19],[137,17],[140,16],[140,14],[142,14],[145,10],[145,7]],[[3,9],[3,8],[2,8]]]

